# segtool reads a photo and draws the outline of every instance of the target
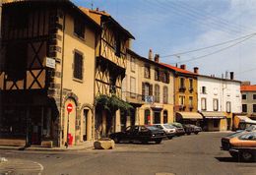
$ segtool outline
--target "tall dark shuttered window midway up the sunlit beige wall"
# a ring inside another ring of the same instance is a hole
[[[83,80],[83,65],[83,55],[75,51],[73,72],[75,79]]]

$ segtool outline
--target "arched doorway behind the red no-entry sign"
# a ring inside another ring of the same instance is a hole
[[[70,113],[67,111],[68,104],[71,104],[73,109]],[[64,133],[63,133],[63,140],[64,144],[67,143],[67,134],[70,134],[70,141],[69,144],[71,146],[75,145],[76,139],[76,118],[77,118],[77,105],[73,98],[68,98],[65,101],[65,112],[64,112]],[[69,124],[69,125],[68,125]]]

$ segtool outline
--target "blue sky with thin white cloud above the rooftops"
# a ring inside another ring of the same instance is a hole
[[[217,77],[233,71],[236,80],[256,84],[256,35],[249,35],[256,32],[255,0],[72,1],[88,8],[93,2],[94,9],[108,12],[135,36],[132,49],[142,56],[152,48],[161,62],[197,66],[201,74]]]

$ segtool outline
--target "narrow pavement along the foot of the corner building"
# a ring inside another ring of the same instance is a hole
[[[90,150],[94,148],[94,142],[85,142],[77,146],[43,147],[43,146],[0,146],[0,149],[10,150],[38,150],[38,151],[67,151],[67,150]]]

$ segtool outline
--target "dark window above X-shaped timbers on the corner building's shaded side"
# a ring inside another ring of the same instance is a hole
[[[15,51],[14,51],[15,50]],[[27,72],[28,43],[10,42],[7,44],[6,67],[8,79],[22,80]]]

